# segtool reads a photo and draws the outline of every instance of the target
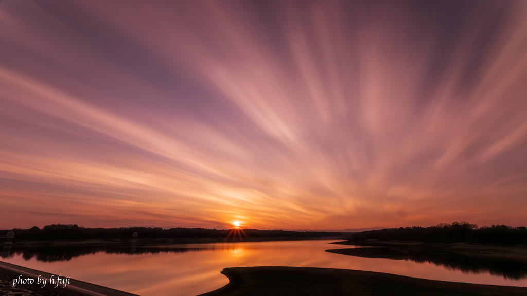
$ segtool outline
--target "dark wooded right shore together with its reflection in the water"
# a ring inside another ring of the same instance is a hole
[[[372,259],[427,262],[465,273],[489,272],[506,279],[527,278],[527,261],[522,251],[527,244],[525,226],[478,228],[476,224],[454,222],[428,227],[370,230],[353,233],[344,244],[374,247],[327,252]]]

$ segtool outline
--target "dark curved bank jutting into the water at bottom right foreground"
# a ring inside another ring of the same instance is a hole
[[[204,296],[527,295],[527,288],[444,282],[402,275],[305,267],[238,267],[222,271],[229,284]]]

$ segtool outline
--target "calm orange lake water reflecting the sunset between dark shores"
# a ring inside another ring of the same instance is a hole
[[[134,249],[53,248],[34,252],[12,250],[9,255],[4,253],[1,260],[142,296],[198,295],[227,284],[227,278],[220,274],[223,268],[262,265],[357,269],[434,280],[527,287],[527,279],[506,279],[506,273],[499,269],[469,266],[462,271],[437,262],[346,256],[324,251],[353,246],[328,242],[178,244],[148,248],[137,246]]]

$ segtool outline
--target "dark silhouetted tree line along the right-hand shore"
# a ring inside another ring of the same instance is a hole
[[[353,233],[350,241],[357,240],[527,244],[527,228],[507,225],[478,228],[476,224],[463,221],[428,227],[412,226]]]

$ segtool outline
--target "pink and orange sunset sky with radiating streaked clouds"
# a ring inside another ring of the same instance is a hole
[[[0,228],[527,225],[527,2],[0,0]]]

